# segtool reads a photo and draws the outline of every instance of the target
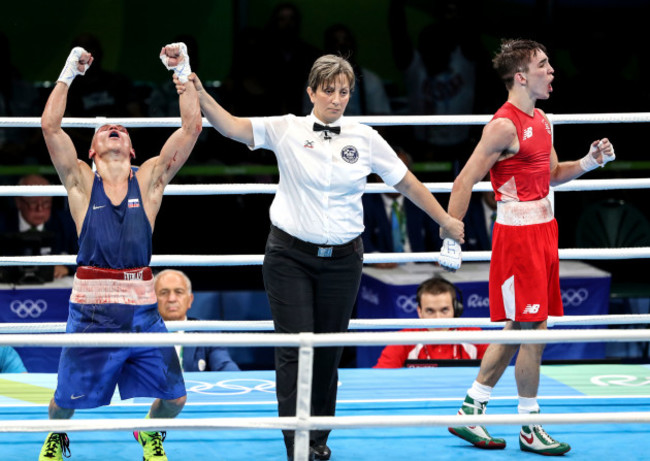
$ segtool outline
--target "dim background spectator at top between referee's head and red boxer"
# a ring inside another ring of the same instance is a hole
[[[405,0],[391,0],[389,30],[393,57],[404,73],[411,115],[471,114],[477,81],[476,27],[472,6],[455,0],[436,5],[439,20],[422,29],[413,46],[406,23]],[[465,14],[465,16],[463,16]],[[436,159],[457,159],[470,150],[468,126],[415,127],[415,137]]]

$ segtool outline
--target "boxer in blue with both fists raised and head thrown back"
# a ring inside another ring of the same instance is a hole
[[[160,58],[187,80],[190,66],[182,43],[163,47]],[[151,236],[165,186],[187,160],[201,132],[196,92],[179,96],[182,126],[160,155],[140,168],[131,165],[135,151],[121,125],[97,130],[89,151],[96,172],[77,158],[70,137],[61,129],[68,89],[85,74],[92,56],[74,48],[52,90],[41,124],[45,143],[68,193],[70,213],[79,235],[79,268],[75,275],[66,331],[167,331],[158,314],[151,269]],[[193,87],[192,87],[193,88]],[[58,385],[50,402],[50,419],[68,419],[77,408],[108,405],[119,387],[120,397],[153,397],[148,417],[173,418],[185,405],[185,383],[173,347],[63,348]],[[143,461],[165,461],[164,432],[136,432]],[[69,456],[64,433],[48,434],[39,461]]]

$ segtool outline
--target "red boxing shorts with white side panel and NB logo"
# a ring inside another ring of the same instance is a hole
[[[490,319],[541,322],[549,315],[563,314],[557,221],[507,225],[497,218],[490,263]]]

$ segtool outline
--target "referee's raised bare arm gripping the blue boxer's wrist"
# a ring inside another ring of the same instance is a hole
[[[223,136],[239,141],[248,146],[253,145],[253,125],[247,118],[235,117],[221,107],[210,94],[205,91],[203,84],[196,74],[189,77],[186,85],[176,85],[179,92],[186,87],[194,86],[199,94],[201,111],[212,125]],[[194,85],[192,85],[194,84]]]

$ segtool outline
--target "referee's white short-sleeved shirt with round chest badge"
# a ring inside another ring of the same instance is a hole
[[[275,152],[280,171],[271,223],[306,242],[341,245],[363,232],[361,195],[376,173],[389,186],[407,168],[373,128],[339,118],[341,134],[314,132],[307,117],[251,118],[253,145]],[[321,123],[322,124],[322,123]]]

